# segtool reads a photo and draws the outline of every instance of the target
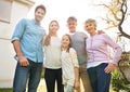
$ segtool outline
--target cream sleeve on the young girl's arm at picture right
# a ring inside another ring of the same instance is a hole
[[[69,52],[70,52],[72,62],[73,62],[74,66],[79,67],[77,53],[76,53],[75,49],[70,48]]]

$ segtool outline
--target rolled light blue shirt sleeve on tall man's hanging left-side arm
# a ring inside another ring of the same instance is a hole
[[[22,38],[22,36],[25,31],[25,27],[26,27],[26,19],[23,18],[15,26],[11,42],[13,42],[14,40],[20,40]]]

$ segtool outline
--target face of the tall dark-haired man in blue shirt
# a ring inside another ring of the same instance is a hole
[[[46,12],[42,10],[42,9],[38,9],[36,12],[35,12],[35,19],[40,23],[44,16]]]

